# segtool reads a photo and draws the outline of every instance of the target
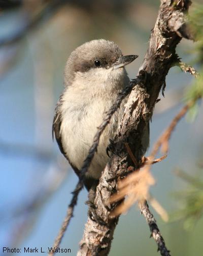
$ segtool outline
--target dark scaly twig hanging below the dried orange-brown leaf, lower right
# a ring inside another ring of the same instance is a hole
[[[140,202],[139,207],[141,209],[141,213],[145,216],[145,219],[149,225],[151,237],[154,238],[155,242],[158,245],[158,251],[160,251],[162,256],[170,256],[171,255],[170,251],[165,246],[164,239],[161,236],[161,233],[158,229],[158,226],[156,224],[156,220],[153,214],[149,210],[147,201],[144,201],[143,203]]]

